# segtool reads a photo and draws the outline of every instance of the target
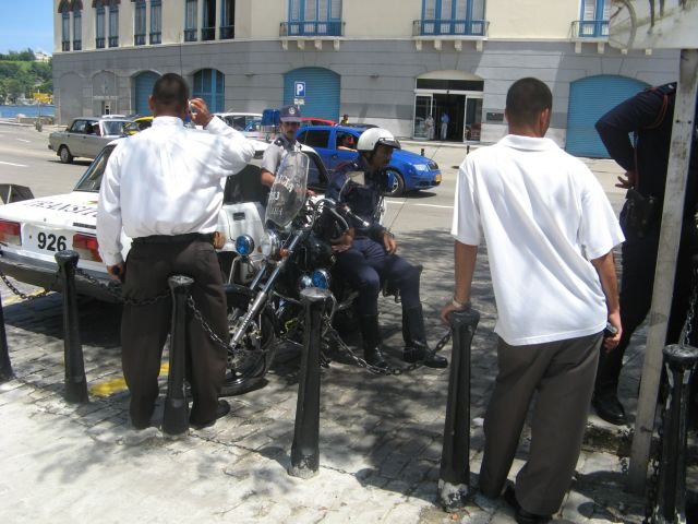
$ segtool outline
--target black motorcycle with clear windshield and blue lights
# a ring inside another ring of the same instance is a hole
[[[239,257],[236,264],[254,266],[254,278],[248,286],[227,286],[229,372],[222,395],[237,395],[264,383],[277,342],[301,345],[303,309],[300,291],[306,287],[330,289],[330,271],[335,262],[332,245],[323,230],[328,215],[335,230],[346,233],[345,219],[351,212],[336,202],[306,194],[308,157],[289,153],[278,169],[269,192],[265,223],[267,239],[260,246],[263,255],[254,263],[254,241],[243,235],[236,240]],[[353,216],[353,215],[351,215]],[[237,270],[233,267],[232,270]],[[335,286],[336,289],[336,286]],[[356,293],[332,295],[324,315],[324,335],[337,337],[332,327],[335,315],[351,308]],[[341,341],[336,341],[340,346]]]

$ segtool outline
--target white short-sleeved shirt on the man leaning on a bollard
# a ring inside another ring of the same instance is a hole
[[[600,333],[605,297],[591,260],[624,238],[593,174],[552,140],[507,135],[464,160],[454,237],[488,245],[498,320],[509,345]]]

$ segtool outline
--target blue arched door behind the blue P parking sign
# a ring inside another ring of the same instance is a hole
[[[304,96],[296,96],[303,84]],[[284,104],[298,104],[304,117],[339,119],[339,74],[324,68],[300,68],[284,75]]]

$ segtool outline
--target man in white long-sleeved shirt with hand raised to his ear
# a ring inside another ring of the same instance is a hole
[[[153,126],[117,145],[99,191],[99,251],[109,273],[123,282],[122,364],[136,429],[149,425],[158,396],[171,300],[143,305],[129,300],[157,297],[168,290],[169,276],[189,275],[195,281],[192,297],[208,325],[224,340],[228,333],[222,277],[212,240],[222,205],[221,180],[246,165],[254,146],[213,118],[204,100],[189,102],[189,96],[178,74],[167,73],[155,82],[148,100]],[[192,120],[207,132],[184,127],[188,102]],[[125,264],[122,230],[133,239]],[[227,402],[218,401],[227,352],[193,318],[186,329],[190,424],[206,427],[230,410]]]

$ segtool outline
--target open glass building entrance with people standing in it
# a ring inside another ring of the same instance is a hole
[[[417,78],[414,88],[414,139],[452,142],[480,141],[484,81],[466,71],[431,71]],[[425,123],[434,120],[433,135]],[[442,123],[446,120],[446,126]],[[442,120],[443,119],[443,120]],[[442,135],[442,131],[445,133]]]

